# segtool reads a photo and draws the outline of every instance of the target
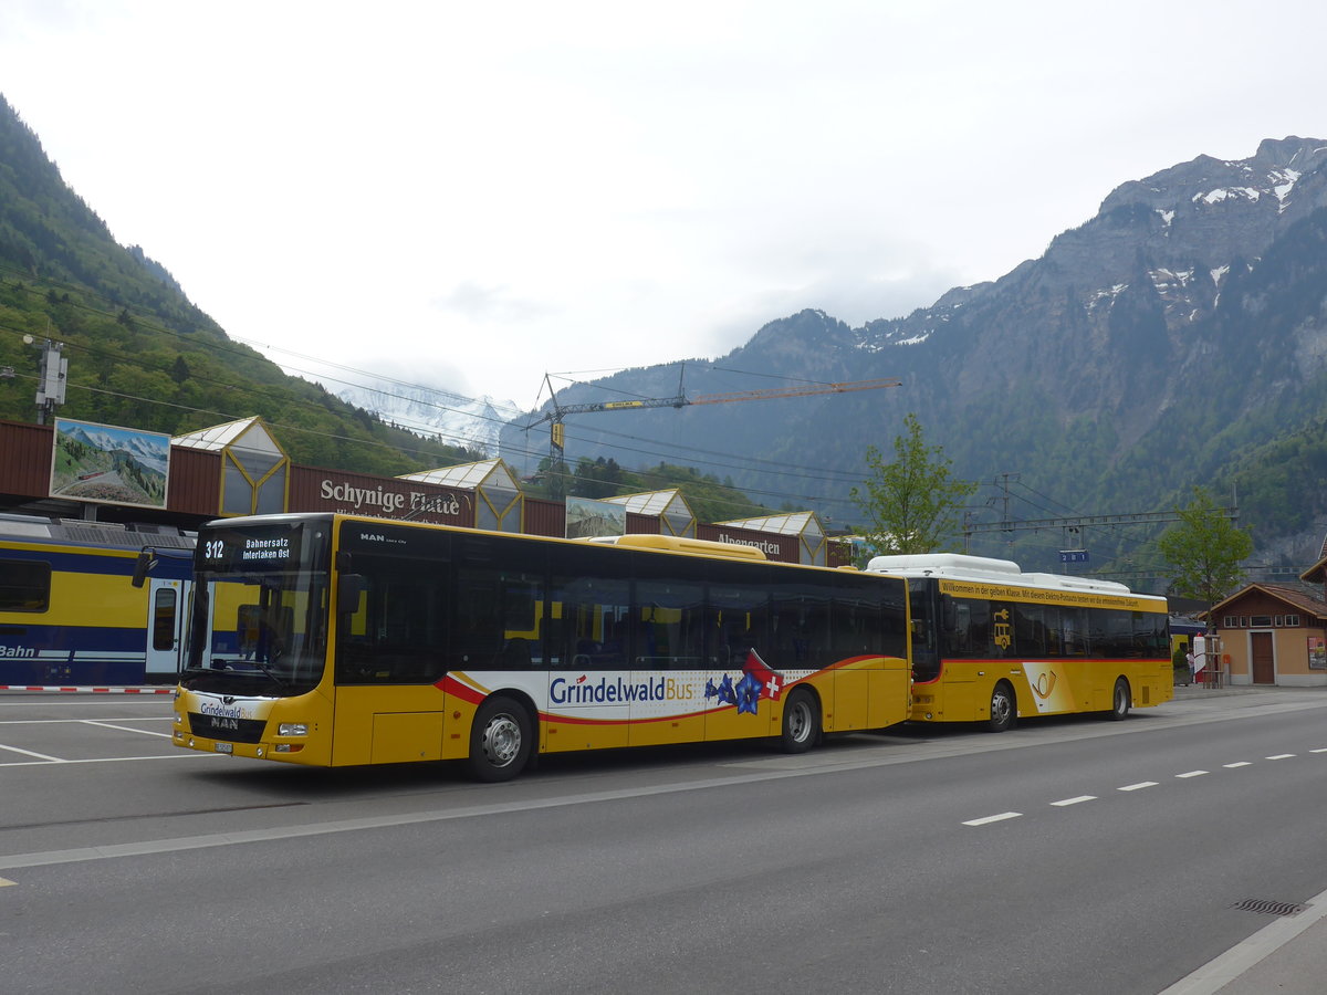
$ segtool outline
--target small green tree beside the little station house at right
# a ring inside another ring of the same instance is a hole
[[[1253,539],[1201,487],[1193,488],[1193,500],[1177,507],[1176,513],[1180,523],[1157,540],[1169,566],[1170,586],[1184,597],[1206,601],[1210,608],[1243,580],[1239,561],[1253,552]]]

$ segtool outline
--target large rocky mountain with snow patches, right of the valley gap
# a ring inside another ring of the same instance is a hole
[[[1267,139],[1247,159],[1200,155],[1123,183],[1040,257],[906,317],[772,321],[691,361],[687,394],[733,390],[733,370],[902,383],[585,414],[567,421],[568,459],[703,447],[698,459],[756,496],[798,494],[851,520],[864,451],[892,454],[914,413],[959,476],[987,483],[975,523],[1154,515],[1204,486],[1238,508],[1259,561],[1307,566],[1327,512],[1327,142]],[[677,378],[675,364],[629,370],[560,403],[669,397]],[[527,446],[514,429],[503,440]],[[1153,559],[1156,525],[1067,529],[978,532],[970,548],[1044,563],[1091,545],[1121,570]]]

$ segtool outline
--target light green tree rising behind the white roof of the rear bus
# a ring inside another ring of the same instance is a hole
[[[867,516],[855,528],[876,553],[930,553],[959,531],[959,512],[977,484],[955,479],[941,446],[926,446],[917,415],[904,418],[904,435],[894,436],[894,460],[886,463],[867,447],[871,468],[863,486],[849,492]]]

